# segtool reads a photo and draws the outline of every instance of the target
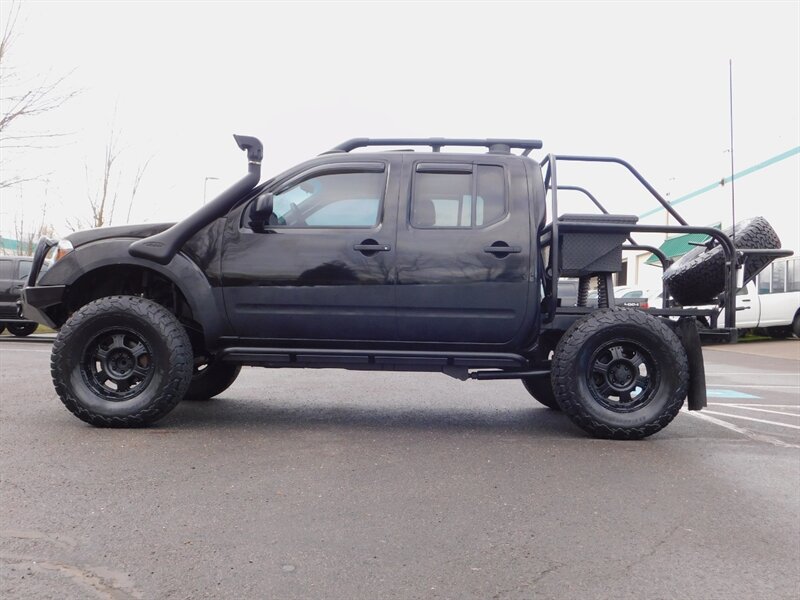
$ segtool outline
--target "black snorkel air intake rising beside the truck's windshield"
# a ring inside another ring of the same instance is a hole
[[[261,178],[261,160],[264,158],[264,147],[257,138],[247,135],[234,135],[233,139],[236,140],[240,149],[247,151],[247,175],[211,202],[203,205],[183,221],[175,223],[166,231],[133,242],[128,247],[128,252],[131,256],[166,265],[190,237],[215,219],[227,214],[243,194],[256,187],[258,180]]]

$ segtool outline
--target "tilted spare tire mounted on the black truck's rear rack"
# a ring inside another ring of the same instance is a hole
[[[778,234],[764,217],[740,221],[734,228],[723,230],[737,248],[777,249]],[[749,256],[744,263],[744,282],[755,278],[774,256]],[[684,254],[664,271],[664,283],[672,297],[683,306],[711,304],[725,290],[725,252],[718,242],[698,246]]]

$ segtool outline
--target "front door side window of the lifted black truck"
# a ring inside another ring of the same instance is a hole
[[[275,195],[275,226],[373,227],[384,182],[383,173],[329,173],[306,179]]]

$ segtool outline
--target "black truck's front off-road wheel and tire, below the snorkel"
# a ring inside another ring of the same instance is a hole
[[[109,296],[64,324],[50,372],[59,398],[79,419],[96,427],[141,427],[180,402],[192,361],[189,337],[166,308],[137,296]]]

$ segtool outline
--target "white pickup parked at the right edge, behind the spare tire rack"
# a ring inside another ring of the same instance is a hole
[[[774,338],[800,337],[800,257],[779,259],[739,290],[736,326]],[[719,323],[724,323],[721,314]]]

